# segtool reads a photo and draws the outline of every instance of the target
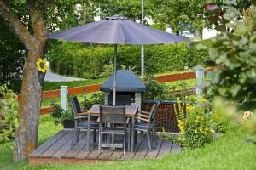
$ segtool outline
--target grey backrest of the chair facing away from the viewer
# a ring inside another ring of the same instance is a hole
[[[100,105],[100,122],[125,124],[125,105]]]

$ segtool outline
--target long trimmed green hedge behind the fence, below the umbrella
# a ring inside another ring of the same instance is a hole
[[[166,71],[181,71],[185,66],[192,68],[202,64],[209,56],[206,51],[189,48],[186,42],[166,45],[145,46],[145,68],[147,74]],[[61,42],[49,50],[52,71],[61,75],[83,78],[99,78],[108,75],[113,68],[113,47],[84,48],[80,44]],[[119,45],[118,69],[121,65],[139,73],[141,46]],[[106,74],[102,74],[102,73]]]

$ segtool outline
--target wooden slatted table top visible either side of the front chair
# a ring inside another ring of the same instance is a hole
[[[125,105],[125,114],[126,116],[135,116],[137,113],[137,110],[139,108],[139,105]],[[90,114],[100,114],[100,105],[93,105],[89,111],[87,111]]]

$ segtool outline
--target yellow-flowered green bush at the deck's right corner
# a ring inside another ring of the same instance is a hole
[[[178,107],[175,107],[175,113],[181,135],[176,137],[165,135],[164,137],[189,149],[200,148],[210,143],[213,140],[213,121],[210,107],[199,107],[195,103],[186,102],[186,112],[184,112],[184,103],[177,101]]]

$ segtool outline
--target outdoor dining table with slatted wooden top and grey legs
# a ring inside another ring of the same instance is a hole
[[[131,152],[133,152],[134,148],[134,124],[135,124],[135,115],[139,109],[139,105],[126,105],[125,106],[125,114],[126,117],[131,117]],[[100,105],[93,105],[88,114],[91,116],[98,116],[100,115]],[[90,116],[89,116],[90,117]],[[87,138],[90,138],[90,132],[87,133]],[[87,140],[89,142],[89,140]]]

